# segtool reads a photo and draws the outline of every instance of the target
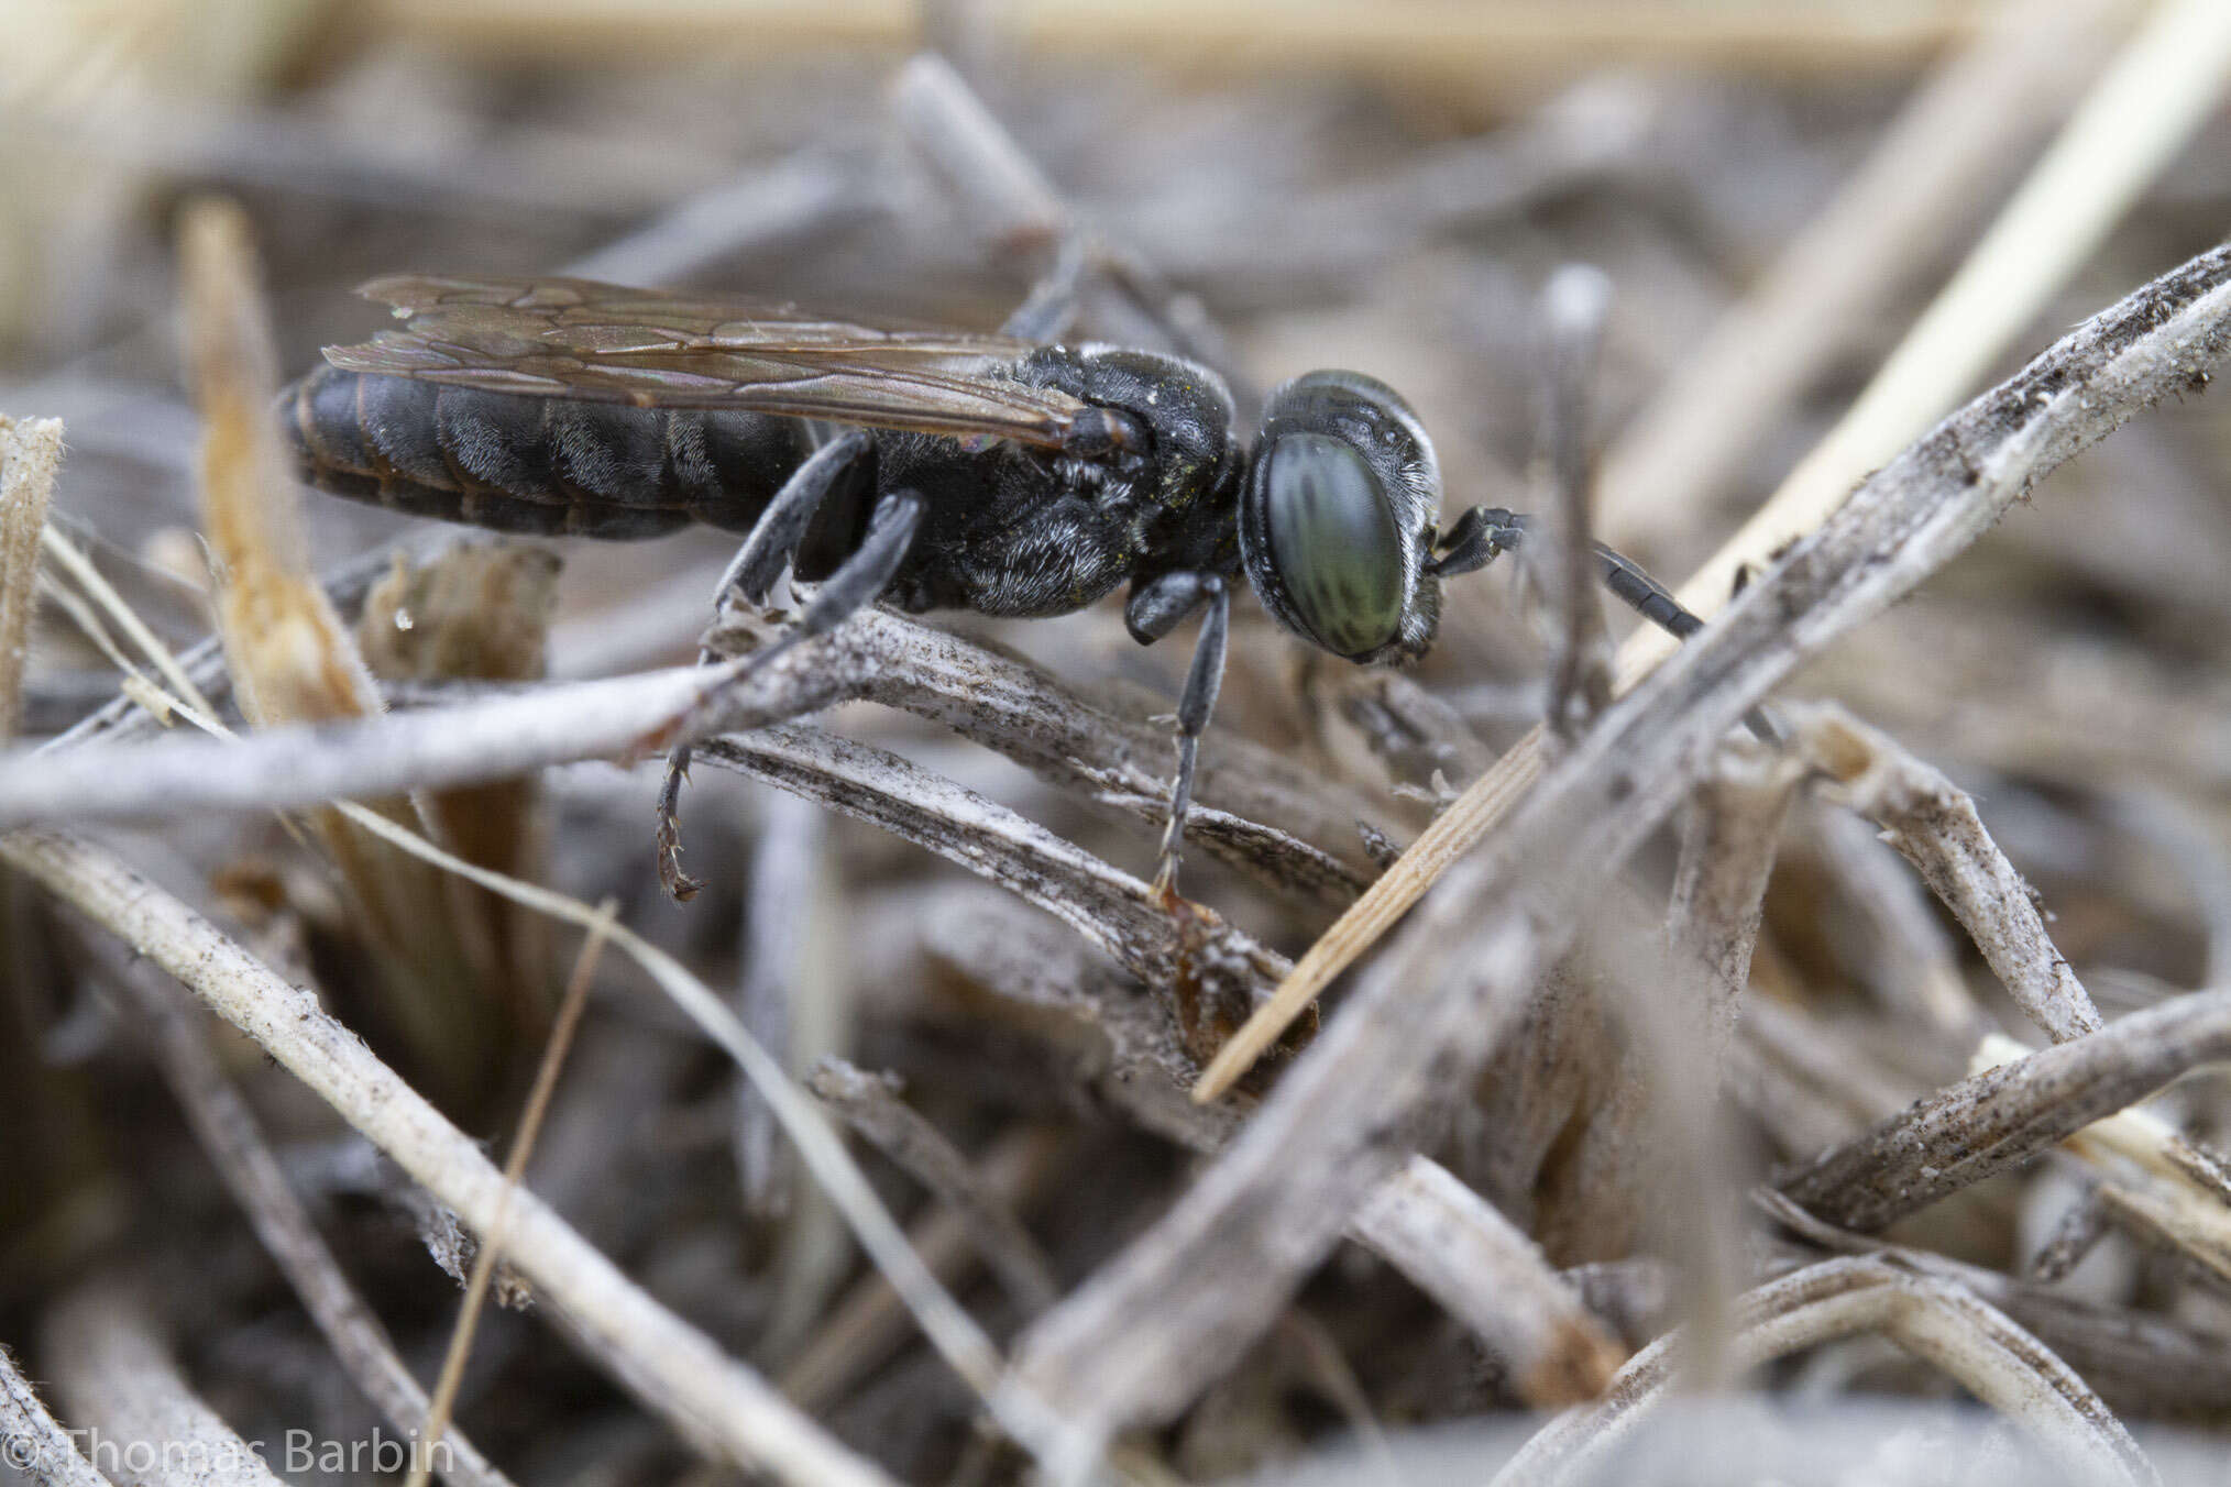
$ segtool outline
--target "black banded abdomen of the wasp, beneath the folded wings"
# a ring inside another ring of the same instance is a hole
[[[631,408],[319,368],[279,395],[303,479],[442,522],[547,537],[750,531],[808,455],[763,412]]]

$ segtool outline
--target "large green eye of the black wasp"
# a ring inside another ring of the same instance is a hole
[[[1406,600],[1401,533],[1363,457],[1325,435],[1281,435],[1265,475],[1278,584],[1316,640],[1363,655],[1394,640]]]

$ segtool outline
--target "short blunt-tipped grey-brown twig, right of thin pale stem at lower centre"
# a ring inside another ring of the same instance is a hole
[[[843,1059],[823,1059],[805,1081],[852,1130],[890,1157],[939,1204],[953,1208],[984,1264],[1026,1315],[1060,1300],[1053,1264],[1031,1231],[984,1184],[968,1157],[899,1099],[890,1077],[863,1075]]]

